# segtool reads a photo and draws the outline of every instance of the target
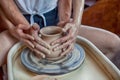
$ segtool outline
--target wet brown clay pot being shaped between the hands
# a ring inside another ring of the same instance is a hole
[[[62,28],[57,26],[48,26],[40,30],[41,38],[50,45],[51,45],[51,42],[62,37],[62,32],[63,32]],[[62,58],[60,57],[60,53],[62,53],[62,50],[53,51],[53,47],[57,45],[61,45],[61,44],[56,44],[51,46],[50,54],[46,55],[46,58],[48,60],[58,60]]]

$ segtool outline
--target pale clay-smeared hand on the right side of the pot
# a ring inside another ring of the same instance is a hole
[[[54,48],[54,51],[60,50],[60,49],[66,49],[61,56],[66,55],[67,53],[70,53],[73,48],[74,48],[74,43],[76,40],[76,36],[77,36],[77,26],[74,23],[67,23],[65,25],[65,27],[63,28],[63,31],[66,33],[65,36],[63,36],[62,38],[54,41],[52,43],[52,45],[55,45],[57,43],[59,44],[63,44],[60,46],[57,46],[56,48]]]

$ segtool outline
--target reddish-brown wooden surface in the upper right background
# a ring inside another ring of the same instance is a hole
[[[120,0],[99,0],[85,9],[82,24],[120,34]]]

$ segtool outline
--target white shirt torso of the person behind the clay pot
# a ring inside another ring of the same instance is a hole
[[[57,6],[58,0],[14,0],[23,14],[43,14]]]

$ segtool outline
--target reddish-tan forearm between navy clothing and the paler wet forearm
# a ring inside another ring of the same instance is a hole
[[[59,21],[69,21],[72,11],[72,0],[59,0],[58,2],[58,14]]]

